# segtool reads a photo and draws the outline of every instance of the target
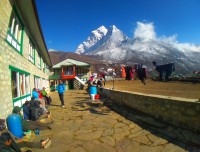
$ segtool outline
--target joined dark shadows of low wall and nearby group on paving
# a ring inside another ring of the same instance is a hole
[[[88,99],[88,98],[87,98]],[[79,108],[76,108],[76,107]],[[174,126],[160,119],[154,118],[143,112],[131,109],[125,105],[119,105],[109,99],[102,98],[98,101],[81,100],[75,102],[74,111],[90,111],[93,114],[106,115],[115,111],[126,119],[136,123],[141,128],[152,134],[166,139],[189,152],[200,152],[200,133],[181,126]]]

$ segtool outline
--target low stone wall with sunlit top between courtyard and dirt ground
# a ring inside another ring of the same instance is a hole
[[[199,99],[103,89],[101,95],[183,128],[200,131]]]

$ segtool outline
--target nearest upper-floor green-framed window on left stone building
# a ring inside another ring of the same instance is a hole
[[[16,11],[12,11],[8,33],[7,33],[7,42],[12,45],[18,52],[21,51],[22,46],[22,24],[19,18],[16,16]]]

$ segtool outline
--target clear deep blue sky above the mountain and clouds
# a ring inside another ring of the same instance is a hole
[[[157,37],[200,45],[200,0],[36,0],[48,49],[74,52],[92,30],[115,25],[129,38],[137,22]]]

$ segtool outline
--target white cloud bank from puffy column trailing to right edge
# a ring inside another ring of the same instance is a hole
[[[155,28],[153,23],[137,22],[137,27],[134,31],[134,38],[139,38],[142,42],[155,40],[157,42],[169,44],[183,52],[185,51],[200,52],[200,46],[196,46],[192,43],[179,43],[177,41],[177,34],[174,34],[169,37],[166,36],[157,37],[154,29]]]

